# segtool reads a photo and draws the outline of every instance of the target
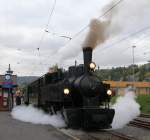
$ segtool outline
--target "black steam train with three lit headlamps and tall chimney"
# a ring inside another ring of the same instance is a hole
[[[57,69],[28,85],[26,103],[51,114],[60,111],[67,126],[83,129],[111,127],[115,114],[109,108],[111,90],[94,75],[92,48],[83,48],[84,64]]]

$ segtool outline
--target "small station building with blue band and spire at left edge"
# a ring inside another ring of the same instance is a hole
[[[17,76],[9,68],[5,75],[0,75],[0,110],[11,110],[13,107],[13,93],[17,88]]]

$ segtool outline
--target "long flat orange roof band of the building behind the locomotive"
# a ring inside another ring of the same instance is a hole
[[[103,81],[106,84],[110,84],[111,87],[150,87],[150,82],[128,82],[128,81]]]

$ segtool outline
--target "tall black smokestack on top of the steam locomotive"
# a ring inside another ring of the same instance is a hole
[[[89,64],[92,62],[92,48],[83,48],[83,59],[85,72],[89,71]]]

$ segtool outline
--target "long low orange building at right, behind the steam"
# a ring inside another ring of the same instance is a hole
[[[136,94],[150,94],[150,82],[104,81],[116,94],[124,94],[128,87],[135,87]]]

